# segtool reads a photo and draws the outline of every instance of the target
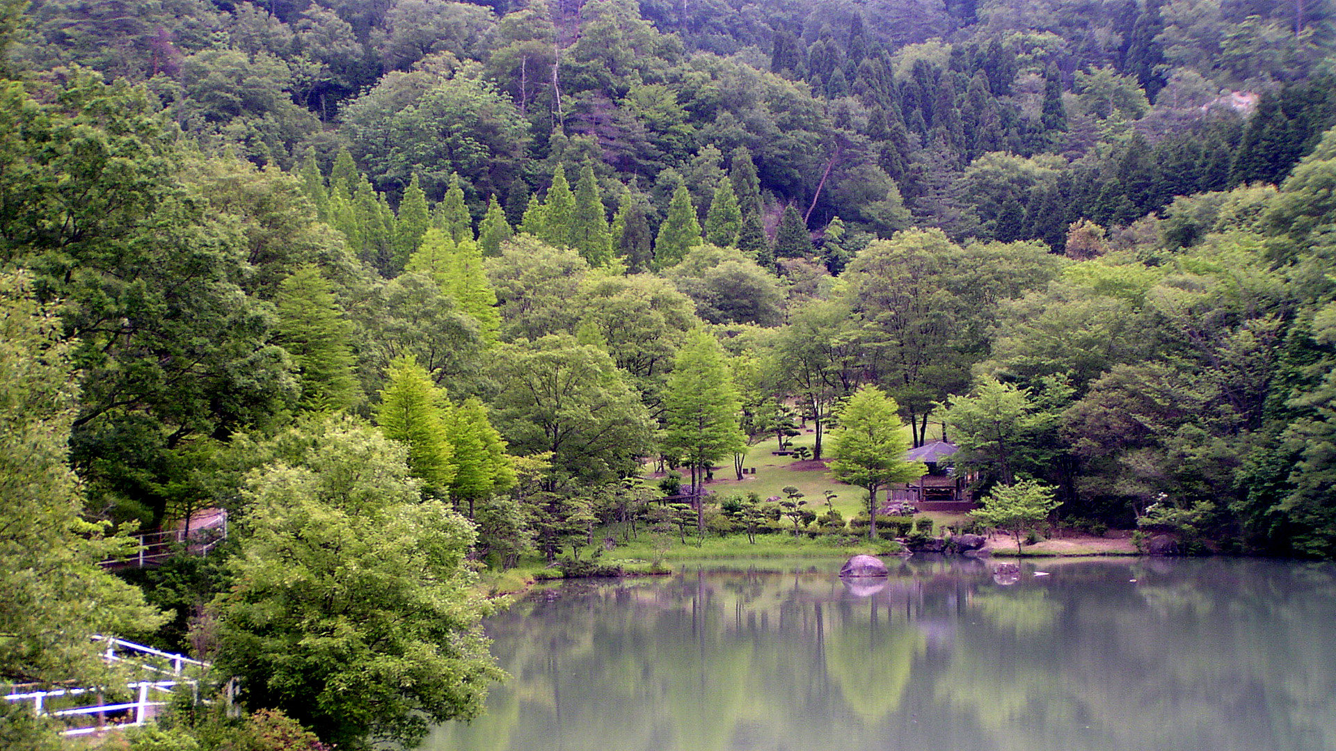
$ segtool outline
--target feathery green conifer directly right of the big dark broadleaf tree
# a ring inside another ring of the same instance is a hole
[[[338,412],[357,401],[353,326],[334,301],[333,289],[311,263],[299,266],[278,286],[278,343],[297,363],[299,409]]]

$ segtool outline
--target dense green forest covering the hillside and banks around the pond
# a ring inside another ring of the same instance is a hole
[[[578,557],[648,469],[795,421],[828,457],[855,393],[1070,522],[1336,557],[1328,3],[0,19],[0,678],[138,625],[341,747],[413,742],[497,673],[477,563]],[[206,506],[222,563],[94,565]]]

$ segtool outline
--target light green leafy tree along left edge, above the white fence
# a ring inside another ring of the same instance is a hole
[[[0,678],[96,684],[106,665],[92,635],[147,633],[164,617],[98,565],[131,541],[80,518],[67,461],[77,386],[59,330],[28,277],[0,275]]]

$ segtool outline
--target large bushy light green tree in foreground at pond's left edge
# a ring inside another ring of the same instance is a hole
[[[339,748],[414,746],[482,711],[504,676],[480,628],[473,527],[418,494],[409,450],[353,420],[243,485],[232,585],[211,605],[215,665],[251,707]]]

